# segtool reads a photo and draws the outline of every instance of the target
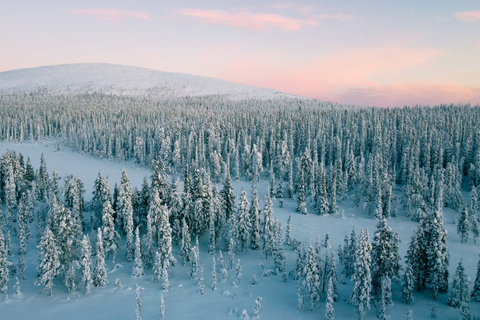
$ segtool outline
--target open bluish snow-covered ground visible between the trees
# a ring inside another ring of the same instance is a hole
[[[103,175],[109,176],[111,187],[113,187],[115,182],[119,182],[123,168],[126,168],[132,186],[140,187],[143,177],[149,175],[149,170],[135,167],[132,163],[104,161],[90,155],[76,154],[64,150],[54,152],[53,146],[48,145],[0,143],[0,154],[3,154],[7,149],[21,152],[25,158],[30,157],[35,168],[38,168],[40,154],[43,153],[50,172],[55,167],[60,177],[63,177],[65,174],[80,176],[85,183],[87,199],[91,197],[93,181],[98,170],[101,170]],[[258,185],[259,197],[262,200],[260,203],[261,207],[263,207],[266,186],[266,181],[262,181]],[[234,187],[237,195],[242,187],[246,189],[248,195],[250,194],[251,186],[249,182],[236,181],[234,182]],[[370,239],[373,239],[373,231],[376,229],[375,221],[372,217],[367,216],[363,210],[355,208],[351,201],[347,200],[339,205],[339,212],[345,211],[344,218],[340,217],[340,214],[319,217],[312,213],[304,216],[296,213],[295,208],[296,204],[291,200],[285,200],[284,208],[279,208],[278,202],[275,202],[274,214],[282,221],[284,230],[288,216],[292,215],[292,236],[302,240],[304,243],[314,243],[317,234],[323,240],[325,234],[329,232],[336,249],[338,244],[343,244],[345,234],[349,234],[353,226],[355,226],[357,235],[360,233],[361,228],[368,227]],[[309,209],[313,212],[312,208]],[[445,209],[444,218],[445,228],[449,234],[450,275],[453,275],[455,272],[458,261],[463,259],[466,273],[473,282],[478,261],[479,244],[473,244],[471,239],[467,244],[460,243],[454,224],[456,219],[455,212]],[[416,229],[416,223],[403,216],[402,212],[400,212],[399,217],[389,219],[388,223],[400,235],[400,256],[403,260],[410,237]],[[324,303],[313,311],[298,311],[296,307],[295,282],[291,278],[287,283],[284,283],[280,275],[261,276],[261,264],[266,269],[273,267],[272,258],[265,260],[261,252],[238,253],[237,258],[241,259],[243,268],[243,277],[240,285],[234,286],[232,284],[235,279],[234,271],[229,273],[226,283],[221,282],[221,275],[217,272],[218,288],[212,291],[210,289],[212,256],[207,253],[206,243],[206,237],[200,239],[200,262],[204,265],[205,294],[200,295],[197,282],[190,280],[190,268],[177,264],[170,273],[170,290],[164,292],[166,319],[236,319],[240,318],[240,313],[243,309],[246,309],[252,315],[252,308],[257,297],[263,298],[260,311],[262,319],[325,318]],[[115,268],[111,262],[108,262],[107,266],[110,272],[108,273],[109,283],[107,287],[93,288],[89,296],[83,296],[82,294],[69,296],[60,282],[54,287],[52,297],[39,295],[39,287],[33,286],[36,277],[35,266],[37,265],[34,245],[35,241],[30,240],[26,261],[28,279],[25,281],[20,280],[22,294],[15,295],[13,293],[11,288],[15,283],[15,279],[11,279],[9,282],[11,293],[8,296],[8,301],[0,302],[0,319],[133,319],[135,317],[136,283],[144,288],[141,293],[143,319],[159,319],[161,286],[151,281],[152,274],[150,271],[147,271],[142,278],[131,277],[131,263],[122,262]],[[288,269],[291,270],[295,267],[296,254],[292,250],[287,250],[286,253]],[[123,254],[124,252],[120,252],[119,255]],[[180,260],[178,248],[176,247],[174,247],[174,255]],[[226,253],[224,253],[224,259],[225,263],[228,263],[228,255]],[[17,263],[17,261],[14,262]],[[259,282],[256,286],[251,284],[254,271],[258,276]],[[341,271],[340,266],[339,271]],[[116,279],[121,280],[122,285],[120,287],[116,286]],[[336,319],[357,318],[353,306],[346,303],[352,291],[351,282],[349,280],[345,281],[344,277],[339,275],[338,288],[340,299],[335,304]],[[411,305],[401,302],[401,287],[398,283],[393,284],[392,291],[394,306],[387,309],[389,319],[405,319],[408,310],[413,310],[414,319],[430,318],[433,300],[429,291],[415,292],[415,302]],[[447,298],[447,294],[441,294],[435,302],[437,304],[438,319],[458,319],[460,310],[448,307],[446,305]],[[480,315],[479,303],[472,302],[470,308],[472,315]],[[366,319],[375,318],[376,309],[372,303]]]

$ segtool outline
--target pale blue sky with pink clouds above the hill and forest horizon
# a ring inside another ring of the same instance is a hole
[[[103,62],[362,106],[480,104],[480,1],[16,0],[0,72]]]

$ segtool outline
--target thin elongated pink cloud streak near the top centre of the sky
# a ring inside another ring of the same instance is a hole
[[[251,30],[299,30],[305,26],[315,26],[311,19],[295,19],[279,14],[252,13],[249,11],[227,12],[221,10],[180,9],[183,16],[200,19],[209,24],[218,24]]]

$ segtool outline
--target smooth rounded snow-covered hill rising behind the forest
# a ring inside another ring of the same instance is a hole
[[[220,94],[231,98],[294,97],[270,89],[182,73],[106,63],[44,66],[0,72],[0,92],[105,92],[182,97]]]

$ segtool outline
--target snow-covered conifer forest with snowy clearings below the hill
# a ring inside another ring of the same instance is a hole
[[[469,105],[1,94],[0,308],[479,318],[479,123]],[[103,159],[94,181],[51,165],[73,152]]]

